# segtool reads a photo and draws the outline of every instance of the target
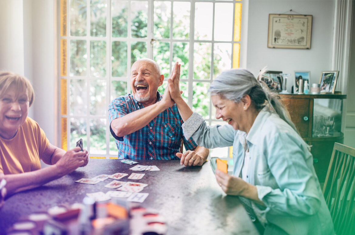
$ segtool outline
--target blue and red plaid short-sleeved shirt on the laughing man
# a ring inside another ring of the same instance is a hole
[[[157,98],[158,101],[162,99],[159,92],[157,92]],[[110,123],[115,118],[123,117],[141,108],[144,108],[143,105],[136,101],[133,95],[120,96],[111,101],[109,105]],[[178,107],[173,105],[158,114],[142,129],[122,137],[115,135],[110,124],[110,132],[116,139],[116,145],[119,150],[118,159],[179,160],[175,153],[180,151],[181,138],[184,141],[186,150],[192,150],[197,147],[192,138],[186,140],[183,136],[182,123]]]

